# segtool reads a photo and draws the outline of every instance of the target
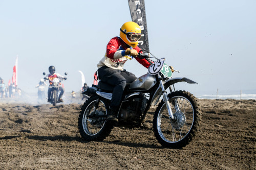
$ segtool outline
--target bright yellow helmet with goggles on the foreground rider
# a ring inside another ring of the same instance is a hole
[[[120,28],[120,38],[128,45],[135,48],[141,37],[140,26],[132,21],[125,22]]]

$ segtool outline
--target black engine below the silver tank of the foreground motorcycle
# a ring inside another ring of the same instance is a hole
[[[144,93],[134,96],[133,98],[123,101],[119,113],[120,120],[131,122],[139,120],[146,107],[146,96]]]

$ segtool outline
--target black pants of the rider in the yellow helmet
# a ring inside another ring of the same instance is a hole
[[[126,70],[113,69],[103,66],[98,69],[99,79],[114,87],[110,107],[116,109],[120,105],[122,94],[126,83],[132,83],[137,77]]]

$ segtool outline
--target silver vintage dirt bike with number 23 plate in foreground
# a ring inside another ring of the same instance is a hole
[[[151,65],[147,74],[126,85],[118,110],[118,124],[106,121],[114,87],[99,81],[97,86],[83,92],[90,98],[78,117],[80,135],[88,141],[103,140],[114,126],[140,126],[151,106],[158,105],[153,118],[156,139],[163,147],[182,148],[199,130],[202,113],[197,98],[187,91],[176,91],[174,84],[196,82],[185,77],[172,78],[172,71],[177,70],[165,64],[164,58],[141,53],[138,57]],[[153,58],[157,61],[153,62]]]

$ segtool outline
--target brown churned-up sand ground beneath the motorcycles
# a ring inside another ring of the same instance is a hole
[[[147,127],[115,127],[103,141],[78,133],[81,103],[0,101],[0,169],[255,169],[256,100],[199,100],[201,131],[162,148]]]

